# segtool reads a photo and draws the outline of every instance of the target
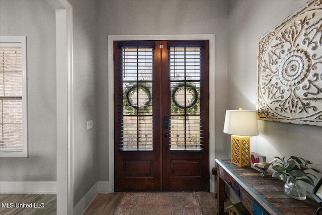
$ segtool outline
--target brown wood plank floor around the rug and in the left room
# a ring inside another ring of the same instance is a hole
[[[113,214],[125,192],[99,193],[85,211],[85,215]],[[202,213],[217,214],[217,199],[210,192],[196,192]],[[231,202],[227,201],[227,205]],[[27,208],[32,206],[32,208]],[[227,206],[225,203],[225,206]],[[54,215],[56,194],[0,194],[1,215]]]

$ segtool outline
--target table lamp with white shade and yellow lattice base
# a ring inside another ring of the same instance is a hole
[[[251,165],[251,137],[258,135],[256,111],[226,110],[224,133],[231,135],[231,163]]]

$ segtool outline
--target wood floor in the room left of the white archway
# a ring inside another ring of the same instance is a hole
[[[56,194],[0,194],[1,215],[54,215]]]

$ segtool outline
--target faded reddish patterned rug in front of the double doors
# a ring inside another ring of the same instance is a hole
[[[195,192],[126,193],[115,211],[119,214],[202,214]]]

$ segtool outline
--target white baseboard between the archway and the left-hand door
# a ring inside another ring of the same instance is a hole
[[[91,187],[91,189],[83,196],[83,198],[74,206],[73,214],[83,214],[98,193],[109,192],[114,192],[114,190],[110,190],[110,183],[108,181],[96,182],[93,187]]]

